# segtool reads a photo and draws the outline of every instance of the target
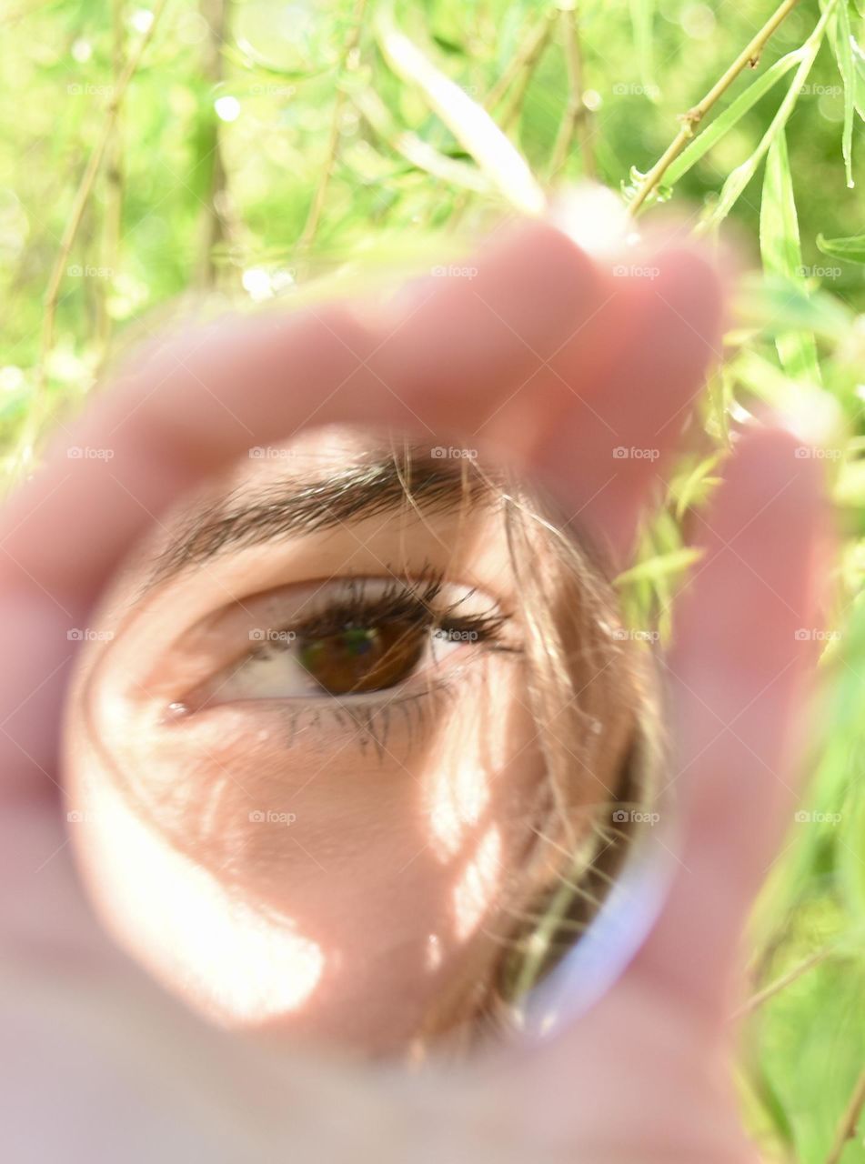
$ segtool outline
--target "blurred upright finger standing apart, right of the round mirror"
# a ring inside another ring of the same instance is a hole
[[[820,462],[744,439],[700,523],[668,662],[679,866],[632,973],[723,1021],[738,944],[796,801],[829,528]],[[664,808],[661,808],[664,810]]]

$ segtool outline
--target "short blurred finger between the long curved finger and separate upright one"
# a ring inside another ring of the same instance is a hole
[[[723,284],[707,255],[682,243],[644,248],[614,263],[590,326],[551,361],[559,391],[537,463],[556,496],[579,485],[565,516],[605,542],[619,568],[721,359],[722,317]]]

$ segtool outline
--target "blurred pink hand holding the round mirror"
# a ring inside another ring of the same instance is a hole
[[[729,1084],[729,1014],[740,931],[795,804],[814,669],[813,637],[796,631],[817,625],[829,546],[820,463],[788,433],[742,438],[696,518],[703,556],[665,663],[681,812],[668,897],[616,985],[544,1042],[410,1076],[314,1049],[277,1056],[205,1025],[93,920],[58,795],[69,629],[88,625],[149,523],[253,445],[352,421],[482,442],[625,562],[723,322],[704,255],[675,237],[643,247],[614,270],[546,222],[503,225],[474,278],[414,281],[378,314],[334,303],[182,329],[59,433],[6,505],[7,1158],[758,1159]]]

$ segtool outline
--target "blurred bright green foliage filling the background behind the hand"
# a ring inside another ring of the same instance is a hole
[[[865,1120],[832,1148],[865,1069],[864,9],[782,7],[641,210],[669,197],[709,234],[726,218],[767,279],[743,292],[704,398],[704,450],[683,461],[622,589],[634,619],[666,627],[690,561],[682,524],[754,410],[779,409],[817,441],[843,532],[837,612],[811,788],[753,922],[742,1094],[767,1158],[865,1164]],[[402,258],[524,203],[525,175],[490,161],[494,122],[540,185],[588,173],[633,198],[678,115],[772,12],[765,0],[5,0],[9,475],[38,425],[191,290],[290,303],[313,276]],[[468,100],[491,114],[474,137]]]

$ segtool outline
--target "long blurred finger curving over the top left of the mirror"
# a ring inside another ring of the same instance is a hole
[[[52,789],[65,672],[139,533],[204,475],[306,425],[476,424],[590,311],[591,264],[543,223],[503,232],[466,279],[430,278],[389,331],[349,306],[221,320],[142,356],[55,439],[0,520],[3,789]],[[448,329],[449,328],[449,329]],[[428,414],[428,419],[426,416]]]

